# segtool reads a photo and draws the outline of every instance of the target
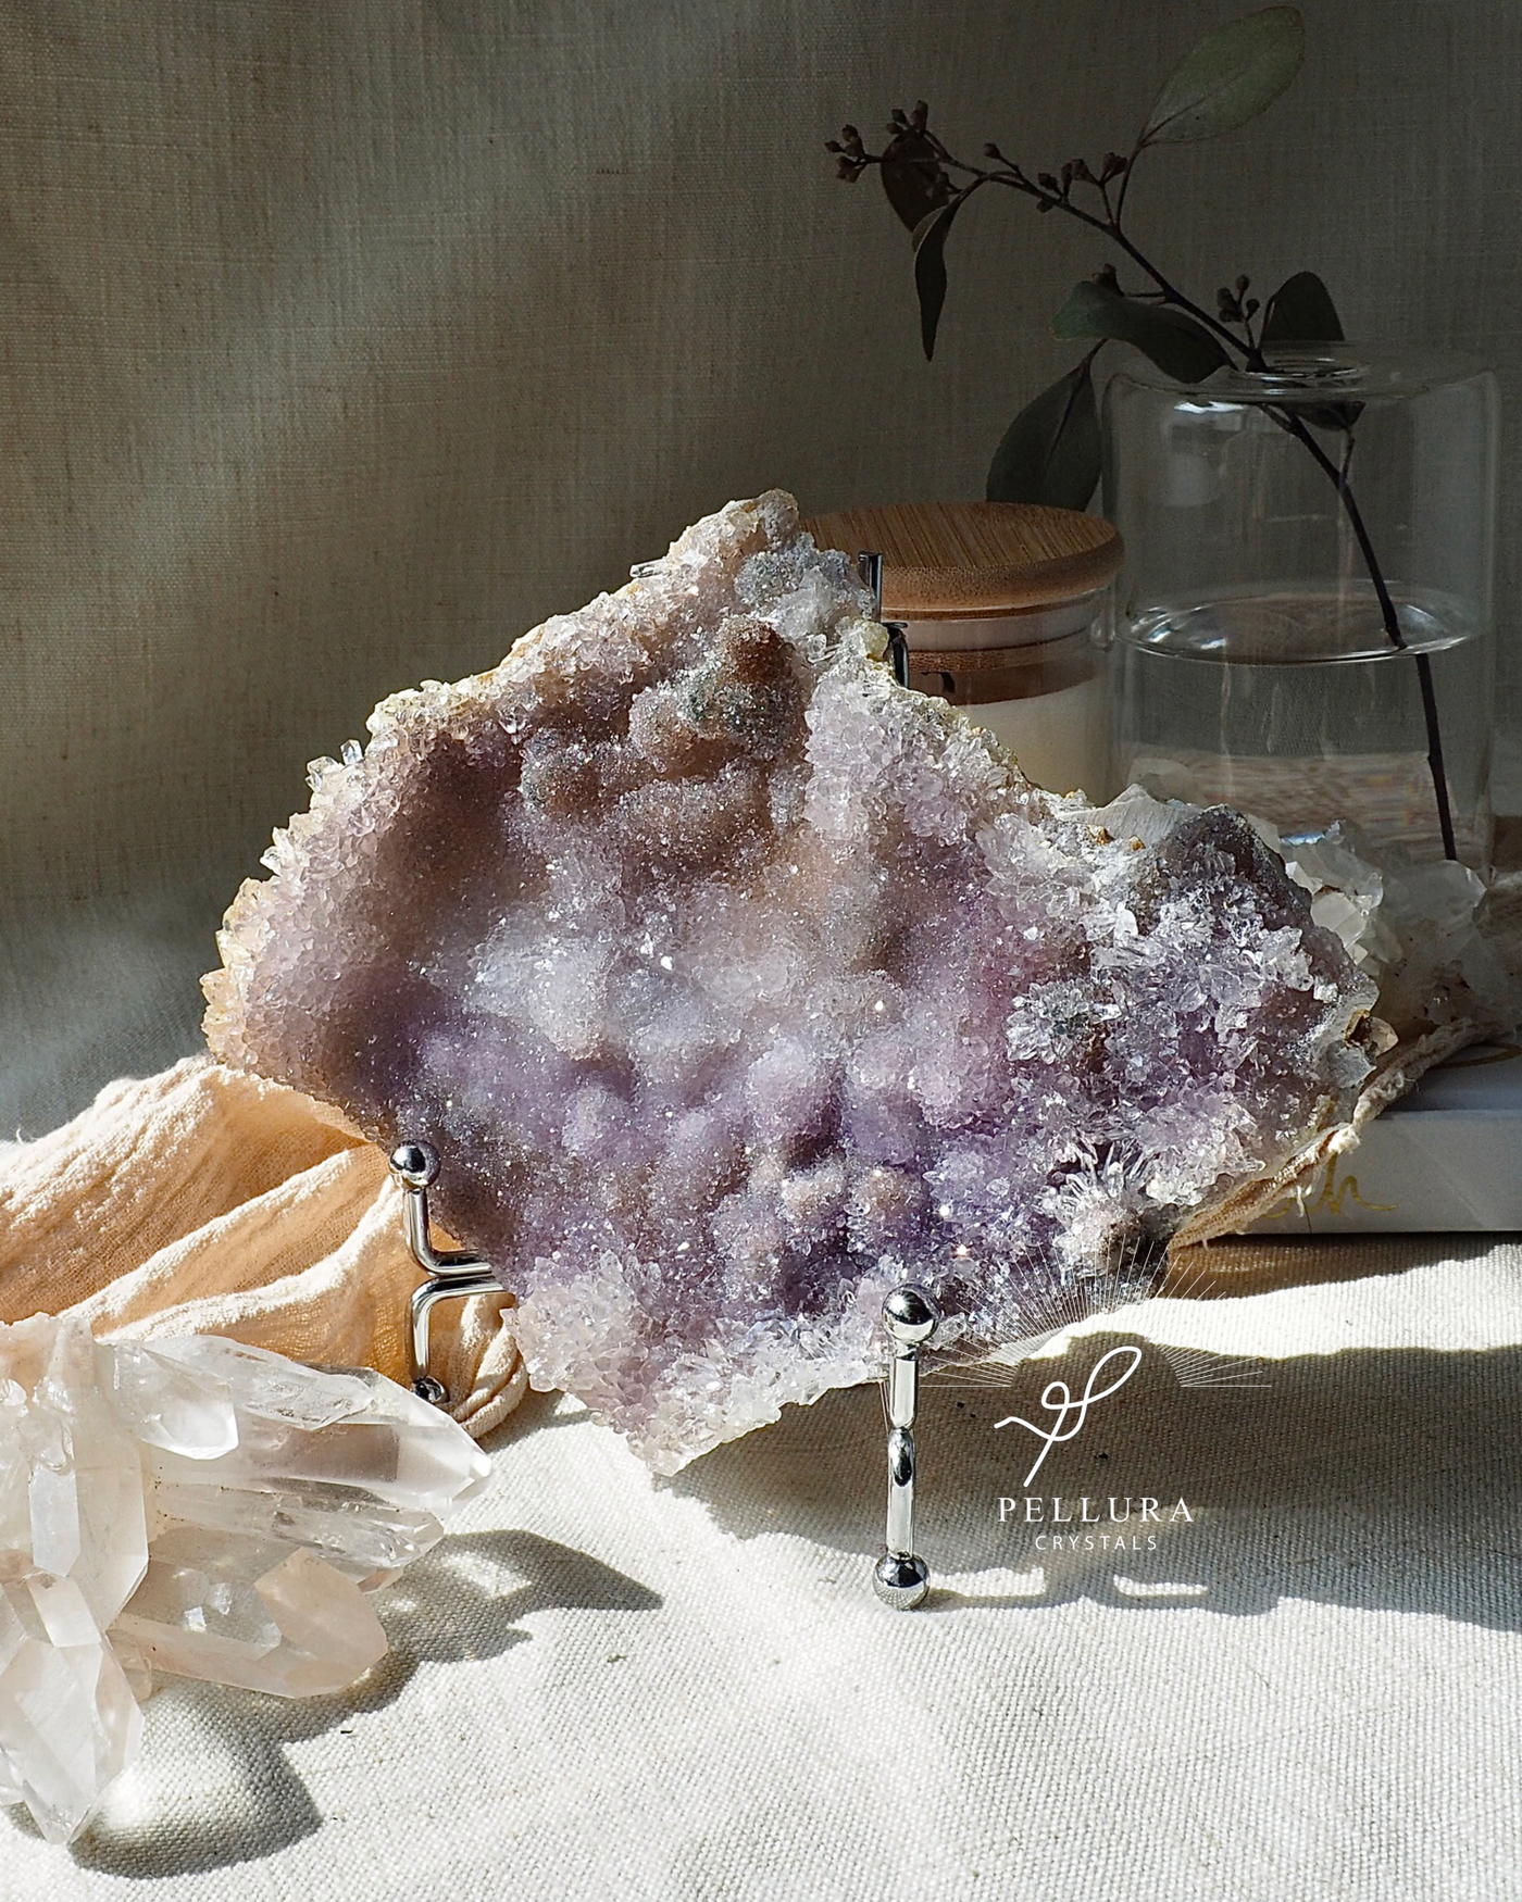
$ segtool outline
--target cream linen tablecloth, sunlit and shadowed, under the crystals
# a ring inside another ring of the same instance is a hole
[[[673,1482],[531,1394],[487,1442],[491,1491],[379,1601],[373,1683],[308,1704],[171,1683],[72,1851],[0,1820],[0,1894],[1522,1894],[1522,1250],[1221,1265],[1223,1288],[1328,1280],[1159,1301],[1062,1368],[930,1392],[938,1582],[911,1615],[868,1590],[873,1388]],[[999,1524],[1033,1442],[993,1423],[1115,1341],[1138,1373],[1029,1491],[1191,1520],[1155,1552],[1037,1554]],[[1180,1385],[1153,1343],[1193,1349],[1189,1379],[1261,1385]]]

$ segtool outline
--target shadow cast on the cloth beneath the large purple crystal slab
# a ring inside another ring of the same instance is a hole
[[[1142,1349],[1134,1377],[1025,1484],[1043,1442],[997,1423],[1050,1425],[1046,1383],[1083,1392],[1121,1345]],[[1250,1617],[1298,1598],[1522,1630],[1522,1347],[1347,1349],[1246,1369],[1191,1354],[1187,1379],[1200,1385],[1181,1385],[1161,1349],[1117,1331],[1006,1373],[1001,1385],[925,1383],[915,1544],[942,1581],[927,1609],[1090,1598]],[[1269,1385],[1208,1385],[1233,1373]],[[790,1533],[862,1554],[866,1586],[883,1548],[879,1394],[790,1407],[668,1484],[740,1539]],[[1060,1531],[1052,1497],[1071,1514]],[[1083,1524],[1083,1499],[1098,1522]],[[1159,1503],[1155,1518],[1140,1520],[1142,1499]],[[1037,1510],[1041,1522],[1027,1522]]]

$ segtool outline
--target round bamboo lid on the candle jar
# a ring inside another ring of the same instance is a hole
[[[1107,521],[1037,502],[888,502],[803,527],[820,548],[881,553],[892,620],[982,620],[1073,601],[1103,588],[1124,557]]]

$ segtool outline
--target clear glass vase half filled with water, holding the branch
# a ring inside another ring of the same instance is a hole
[[[1119,371],[1119,784],[1414,858],[1448,831],[1486,873],[1497,411],[1478,363],[1353,344],[1197,386]]]

